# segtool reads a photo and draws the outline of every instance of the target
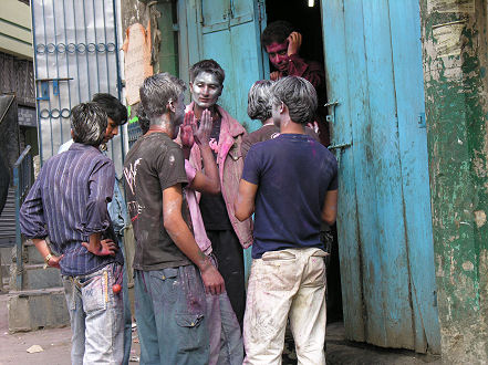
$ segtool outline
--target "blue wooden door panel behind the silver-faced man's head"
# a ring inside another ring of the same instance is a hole
[[[179,28],[184,46],[184,67],[205,60],[216,60],[226,72],[219,105],[227,109],[248,132],[260,127],[247,115],[251,85],[269,73],[260,45],[266,25],[262,1],[255,0],[189,0],[180,1]],[[187,70],[181,70],[185,75]]]

